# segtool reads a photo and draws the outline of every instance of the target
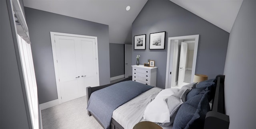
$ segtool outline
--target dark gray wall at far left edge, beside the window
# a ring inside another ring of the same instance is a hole
[[[0,14],[0,129],[29,129],[6,0],[0,0]]]

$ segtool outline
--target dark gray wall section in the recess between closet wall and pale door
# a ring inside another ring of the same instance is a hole
[[[124,74],[124,44],[109,44],[110,77]]]

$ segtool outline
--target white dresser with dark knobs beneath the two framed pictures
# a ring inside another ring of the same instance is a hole
[[[132,80],[156,87],[156,68],[144,65],[132,65]]]

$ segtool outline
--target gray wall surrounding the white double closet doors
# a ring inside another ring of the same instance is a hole
[[[58,99],[50,31],[98,37],[100,85],[110,83],[108,25],[26,8],[39,103]]]

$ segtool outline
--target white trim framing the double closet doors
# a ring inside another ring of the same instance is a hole
[[[75,34],[59,33],[59,32],[50,32],[51,43],[52,43],[52,56],[53,56],[54,71],[55,71],[56,86],[57,86],[57,94],[58,94],[58,104],[61,104],[62,100],[60,99],[61,98],[61,94],[60,94],[61,91],[60,91],[60,83],[59,83],[59,75],[58,75],[58,64],[57,64],[57,56],[56,56],[56,47],[55,47],[54,35],[71,36],[71,37],[84,37],[84,38],[95,39],[97,85],[99,86],[100,85],[100,79],[99,79],[99,64],[98,64],[98,41],[97,41],[97,37],[94,37],[94,36],[75,35]]]

